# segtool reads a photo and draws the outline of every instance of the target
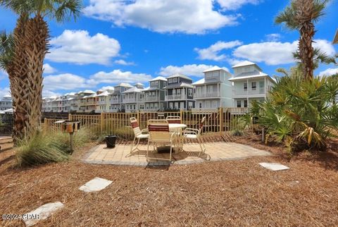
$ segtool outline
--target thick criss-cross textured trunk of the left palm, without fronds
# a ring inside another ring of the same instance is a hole
[[[42,109],[42,73],[48,50],[49,30],[41,16],[20,16],[13,32],[13,140],[29,140],[39,130]]]

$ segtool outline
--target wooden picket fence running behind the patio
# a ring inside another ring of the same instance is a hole
[[[237,119],[247,112],[244,108],[220,108],[196,111],[177,112],[143,112],[136,113],[101,113],[100,115],[68,114],[69,121],[80,121],[81,127],[89,128],[94,133],[125,135],[132,137],[130,118],[139,121],[140,128],[147,127],[149,119],[165,119],[167,116],[180,116],[182,123],[188,128],[198,128],[202,118],[206,117],[203,133],[223,133],[237,128]],[[60,119],[44,118],[46,132],[61,131],[61,124],[55,123]],[[250,123],[250,125],[252,122]]]

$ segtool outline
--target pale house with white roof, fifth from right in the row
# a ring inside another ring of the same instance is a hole
[[[122,96],[122,102],[125,104],[125,112],[136,112],[144,109],[144,85],[137,83],[134,87],[126,90]]]

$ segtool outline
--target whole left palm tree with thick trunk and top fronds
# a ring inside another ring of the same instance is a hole
[[[49,49],[46,18],[61,23],[80,15],[80,0],[0,0],[20,17],[13,32],[14,137],[29,139],[39,129],[42,109],[42,73]],[[8,73],[9,74],[9,73]]]

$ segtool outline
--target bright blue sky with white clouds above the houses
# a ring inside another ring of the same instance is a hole
[[[276,0],[87,0],[80,18],[48,20],[51,49],[46,56],[44,96],[98,90],[119,82],[142,82],[184,73],[194,80],[211,66],[258,63],[265,73],[293,64],[299,33],[274,24],[289,1]],[[338,28],[338,1],[316,24],[315,46],[329,55]],[[0,9],[0,30],[13,31],[17,16]],[[337,71],[323,65],[315,73]],[[0,71],[0,95],[8,92]]]

